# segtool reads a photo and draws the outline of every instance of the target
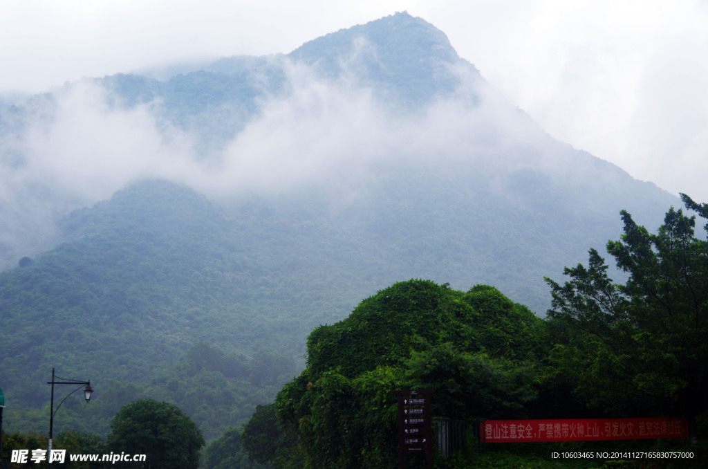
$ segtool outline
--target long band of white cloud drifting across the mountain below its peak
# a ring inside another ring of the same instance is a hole
[[[356,63],[354,57],[350,65]],[[210,196],[303,186],[346,191],[382,162],[469,159],[500,141],[537,138],[523,115],[506,111],[507,103],[481,84],[473,85],[484,95],[479,108],[442,101],[425,113],[400,115],[352,77],[319,79],[295,64],[287,77],[287,96],[263,101],[258,116],[222,152],[207,157],[195,154],[193,135],[158,125],[159,103],[125,109],[110,106],[105,90],[91,81],[65,86],[55,94],[50,117],[30,120],[13,144],[25,164],[3,177],[28,198],[36,199],[33,187],[45,188],[53,196],[36,202],[64,213],[67,205],[110,198],[146,177],[187,183]]]

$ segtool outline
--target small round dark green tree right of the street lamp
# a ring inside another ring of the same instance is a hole
[[[151,399],[131,402],[115,414],[110,428],[110,451],[145,454],[149,468],[199,465],[199,451],[205,443],[202,431],[181,409],[167,402]]]

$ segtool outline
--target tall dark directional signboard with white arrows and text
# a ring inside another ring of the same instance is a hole
[[[433,431],[430,395],[435,390],[392,391],[399,399],[399,469],[405,454],[426,453],[426,468],[433,468]]]

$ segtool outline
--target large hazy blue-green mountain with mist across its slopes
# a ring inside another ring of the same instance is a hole
[[[543,276],[619,237],[620,210],[653,229],[679,205],[553,140],[407,13],[0,106],[0,152],[0,383],[20,429],[42,429],[56,367],[96,389],[64,425],[105,433],[153,397],[212,438],[377,290],[486,284],[543,315]]]

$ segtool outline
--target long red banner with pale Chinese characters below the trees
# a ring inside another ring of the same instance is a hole
[[[486,443],[687,438],[683,417],[648,419],[484,420]]]

